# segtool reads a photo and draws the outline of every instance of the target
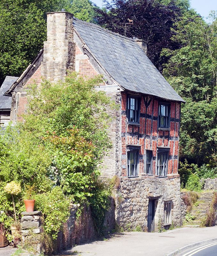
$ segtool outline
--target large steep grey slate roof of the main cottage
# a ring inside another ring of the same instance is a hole
[[[74,28],[94,57],[122,88],[185,102],[135,40],[76,18]]]

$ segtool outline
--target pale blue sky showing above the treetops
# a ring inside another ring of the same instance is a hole
[[[194,8],[201,16],[206,18],[211,10],[217,11],[217,0],[190,0],[191,7]],[[92,0],[91,2],[102,6],[103,0]]]

